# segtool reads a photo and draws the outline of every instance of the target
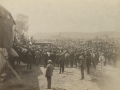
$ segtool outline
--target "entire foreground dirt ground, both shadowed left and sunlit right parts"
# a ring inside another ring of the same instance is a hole
[[[16,66],[16,71],[21,80],[26,83],[21,85],[15,75],[9,70],[5,82],[0,83],[0,90],[47,90],[45,78],[46,68],[32,66],[32,70],[26,69],[26,64]],[[54,68],[51,90],[120,90],[120,62],[117,66],[106,65],[102,69],[100,64],[97,69],[91,67],[90,74],[85,70],[85,79],[80,80],[81,73],[78,68],[65,68],[63,74],[59,74],[59,67]]]

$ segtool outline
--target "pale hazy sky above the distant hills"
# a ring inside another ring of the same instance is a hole
[[[29,16],[29,32],[120,30],[119,0],[0,0],[14,19]]]

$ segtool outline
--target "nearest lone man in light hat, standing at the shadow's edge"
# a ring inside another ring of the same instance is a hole
[[[51,60],[48,60],[48,65],[47,65],[47,68],[46,68],[46,74],[45,74],[45,77],[47,78],[47,88],[48,89],[51,89],[51,76],[52,76],[52,73],[53,73],[53,65],[52,65],[52,61]]]

